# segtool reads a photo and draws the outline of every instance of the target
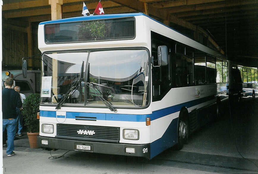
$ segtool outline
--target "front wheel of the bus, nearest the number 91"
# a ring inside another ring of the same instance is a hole
[[[188,143],[188,122],[180,120],[179,126],[178,126],[178,142],[177,142],[177,150],[180,150],[183,148],[184,144]]]

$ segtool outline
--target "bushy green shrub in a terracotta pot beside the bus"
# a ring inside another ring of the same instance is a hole
[[[40,132],[40,120],[37,119],[37,113],[39,112],[40,107],[40,94],[29,94],[29,96],[23,101],[22,106],[24,125],[27,127],[30,148],[38,148],[37,136]]]

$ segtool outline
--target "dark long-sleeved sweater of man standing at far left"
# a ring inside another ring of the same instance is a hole
[[[3,119],[16,118],[16,107],[21,107],[21,97],[18,92],[12,88],[2,90],[2,112]]]

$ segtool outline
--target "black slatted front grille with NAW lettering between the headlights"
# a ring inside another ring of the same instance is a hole
[[[119,142],[119,127],[109,126],[90,126],[76,124],[57,124],[56,137],[85,140],[85,141],[103,141]]]

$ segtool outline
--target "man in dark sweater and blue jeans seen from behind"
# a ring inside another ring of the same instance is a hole
[[[3,112],[3,132],[7,130],[7,156],[13,156],[14,136],[16,126],[16,107],[21,107],[20,94],[12,89],[13,79],[7,78],[4,82],[5,88],[2,90],[2,112]]]

